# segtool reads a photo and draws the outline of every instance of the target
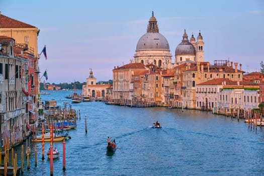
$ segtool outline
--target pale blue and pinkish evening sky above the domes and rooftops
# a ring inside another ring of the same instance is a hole
[[[242,64],[259,71],[264,61],[264,1],[15,1],[1,0],[1,14],[40,29],[38,52],[46,45],[50,83],[86,81],[92,68],[97,81],[112,79],[114,66],[133,59],[152,11],[159,33],[168,41],[172,61],[184,29],[189,39],[199,31],[204,60]],[[0,26],[1,28],[1,26]],[[42,79],[42,81],[44,78]]]

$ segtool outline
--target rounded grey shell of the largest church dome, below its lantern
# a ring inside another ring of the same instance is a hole
[[[137,42],[136,50],[169,50],[167,39],[160,33],[147,32]]]

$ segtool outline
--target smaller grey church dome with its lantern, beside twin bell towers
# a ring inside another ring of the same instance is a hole
[[[182,43],[180,43],[175,49],[175,56],[177,55],[195,55],[195,48],[189,42],[186,30],[184,30]]]

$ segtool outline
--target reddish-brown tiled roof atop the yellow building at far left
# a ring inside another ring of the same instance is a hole
[[[0,14],[0,27],[1,28],[36,28],[35,26],[23,23],[21,21],[12,19],[2,14]]]

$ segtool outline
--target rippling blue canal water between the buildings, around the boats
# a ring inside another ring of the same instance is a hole
[[[69,91],[41,95],[43,101],[70,102]],[[59,101],[60,100],[60,101]],[[62,154],[54,160],[53,175],[261,175],[264,173],[264,130],[248,128],[242,120],[212,112],[167,108],[130,108],[81,102],[77,127],[68,131],[66,170]],[[84,116],[87,117],[87,134]],[[161,129],[152,129],[158,120]],[[107,153],[107,136],[118,149]],[[35,144],[34,144],[35,145]],[[24,175],[50,175],[50,162],[42,160],[36,143],[35,167],[31,144],[30,169]],[[54,143],[62,153],[62,143]],[[45,143],[45,153],[49,143]],[[20,159],[20,147],[17,147]],[[26,163],[26,160],[25,160]],[[18,162],[21,165],[21,162]]]

